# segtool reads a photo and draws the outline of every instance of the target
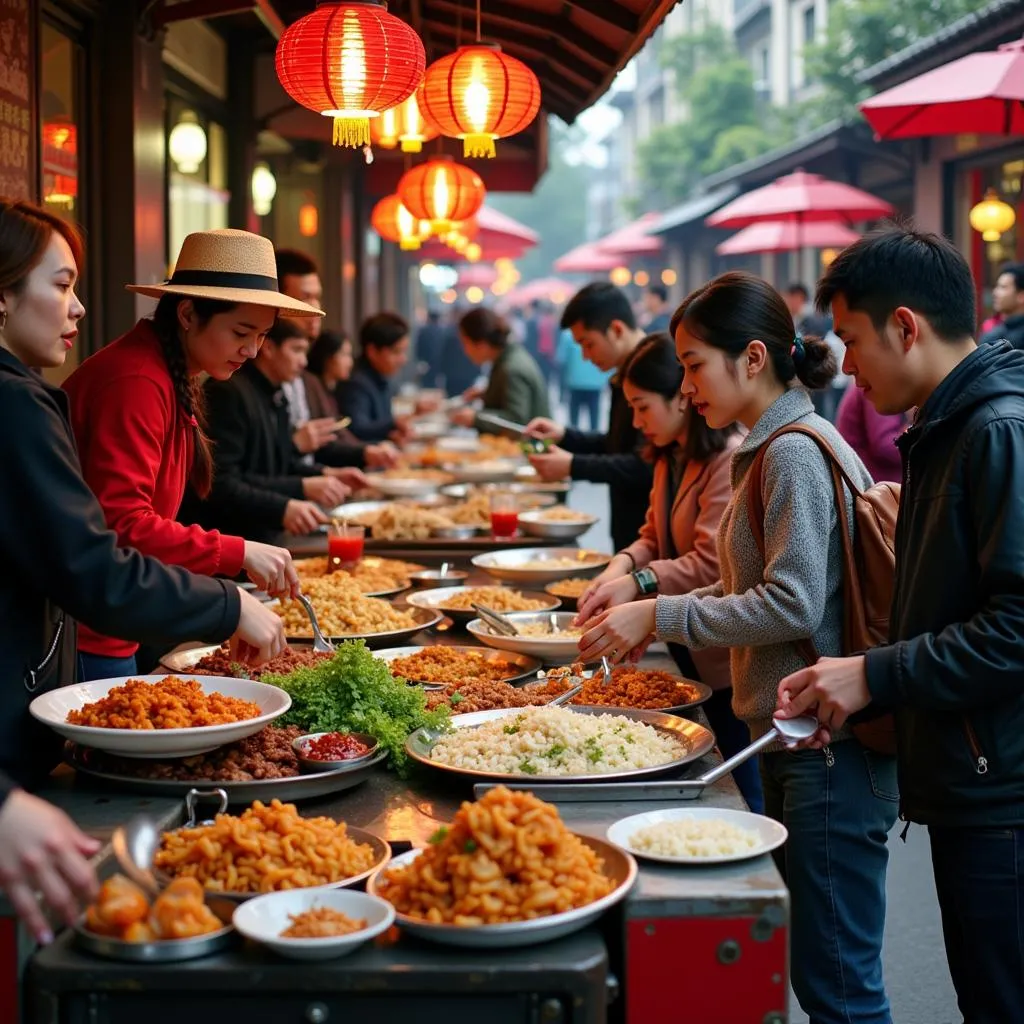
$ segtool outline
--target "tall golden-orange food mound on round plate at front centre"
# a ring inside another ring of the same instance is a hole
[[[601,858],[530,793],[498,786],[464,803],[412,863],[386,870],[378,891],[398,913],[474,927],[587,906],[614,883]]]

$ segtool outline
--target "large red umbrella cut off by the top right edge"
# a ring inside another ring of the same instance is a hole
[[[911,78],[860,110],[880,139],[1024,134],[1024,39]]]

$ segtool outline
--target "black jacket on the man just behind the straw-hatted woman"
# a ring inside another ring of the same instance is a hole
[[[250,541],[279,543],[289,501],[304,498],[302,478],[324,471],[300,461],[285,392],[247,362],[229,380],[206,382],[206,415],[213,441],[213,489],[203,501],[189,487],[178,519]]]

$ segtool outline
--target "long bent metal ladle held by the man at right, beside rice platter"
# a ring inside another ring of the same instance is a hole
[[[564,696],[564,694],[561,694]],[[778,739],[787,745],[802,739],[810,739],[818,730],[817,719],[809,715],[799,718],[772,719],[773,728],[744,746],[738,754],[723,761],[711,771],[696,778],[675,779],[670,782],[478,782],[473,786],[473,796],[482,797],[497,785],[507,790],[522,790],[543,794],[545,800],[554,803],[604,803],[607,801],[658,801],[696,800],[705,788],[731,774],[758,751]]]

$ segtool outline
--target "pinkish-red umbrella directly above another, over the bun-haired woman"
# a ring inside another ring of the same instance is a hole
[[[799,170],[726,203],[705,223],[710,227],[746,227],[763,220],[792,220],[799,224],[818,220],[853,222],[874,220],[892,212],[885,200],[870,193]]]

